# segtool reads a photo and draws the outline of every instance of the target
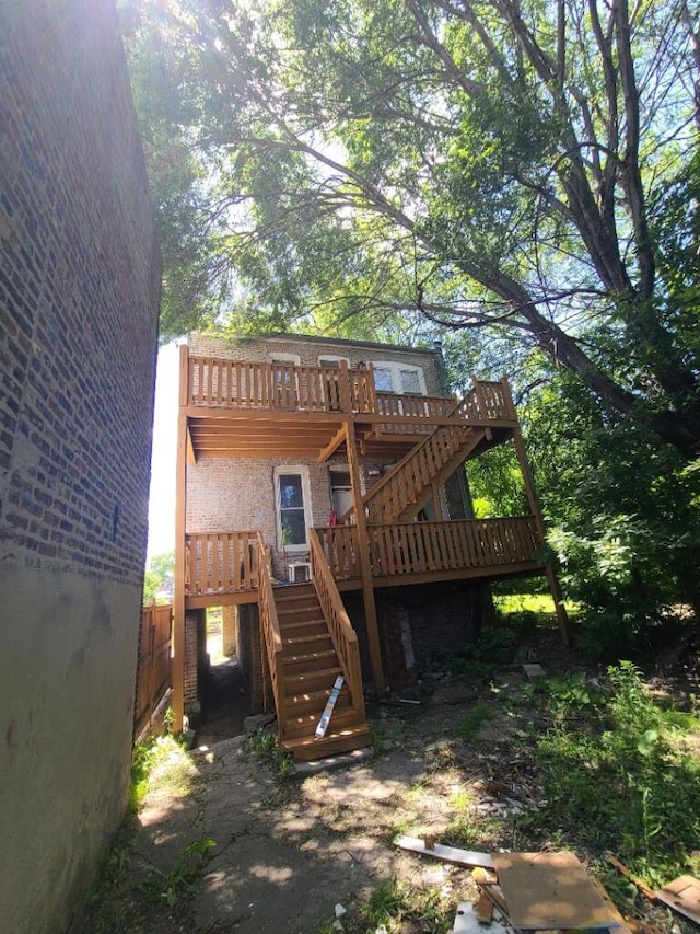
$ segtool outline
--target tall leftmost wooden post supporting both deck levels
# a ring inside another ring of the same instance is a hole
[[[177,465],[175,484],[175,593],[173,603],[173,729],[180,733],[185,717],[185,532],[187,515],[187,415],[189,354],[180,347]]]

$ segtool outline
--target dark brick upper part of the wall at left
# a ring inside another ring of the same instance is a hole
[[[0,24],[0,535],[137,584],[160,267],[115,14],[23,0]]]

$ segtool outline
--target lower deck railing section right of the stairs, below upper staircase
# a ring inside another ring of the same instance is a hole
[[[368,527],[372,574],[503,568],[536,560],[542,547],[534,516]]]

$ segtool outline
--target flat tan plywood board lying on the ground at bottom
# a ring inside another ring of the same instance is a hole
[[[573,853],[494,853],[493,866],[513,927],[617,927]]]

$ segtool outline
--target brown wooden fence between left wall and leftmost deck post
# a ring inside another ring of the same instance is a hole
[[[172,622],[172,603],[152,602],[141,610],[133,707],[135,735],[145,727],[163,694],[171,687]]]

